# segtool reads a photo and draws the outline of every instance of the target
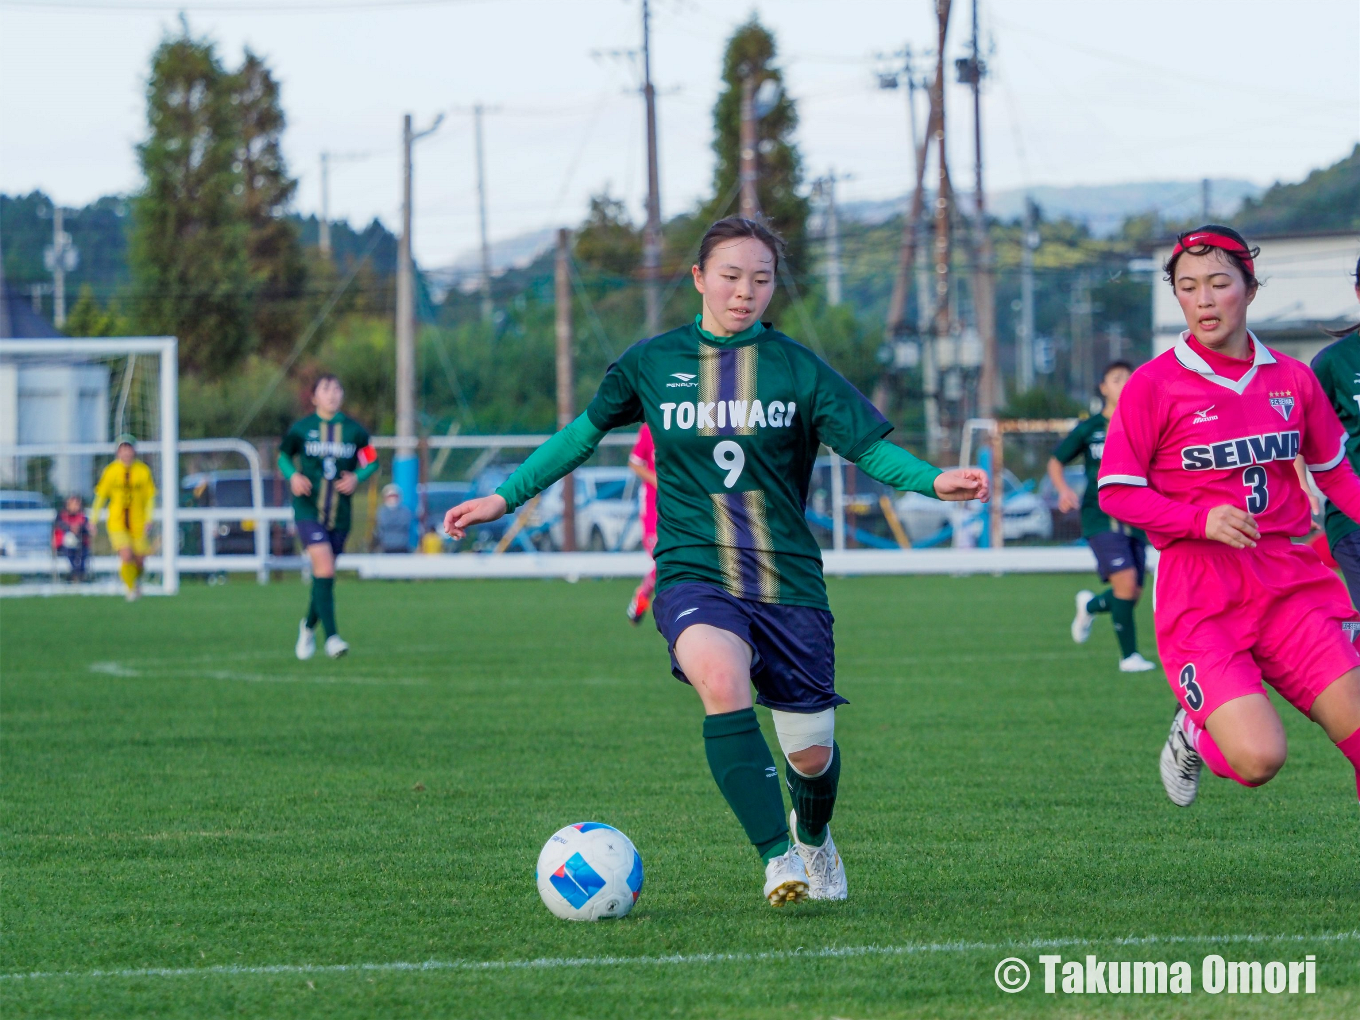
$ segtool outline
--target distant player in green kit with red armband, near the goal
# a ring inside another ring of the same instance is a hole
[[[311,403],[316,413],[294,423],[279,445],[279,471],[292,490],[298,539],[311,560],[311,601],[298,624],[296,653],[298,658],[316,654],[320,622],[326,632],[326,654],[340,658],[350,645],[336,632],[336,556],[350,534],[354,491],[378,469],[378,453],[367,430],[340,413],[340,379],[318,375],[311,384]]]

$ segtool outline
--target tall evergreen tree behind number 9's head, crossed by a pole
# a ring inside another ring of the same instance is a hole
[[[722,57],[724,90],[713,107],[713,151],[718,163],[713,171],[713,200],[704,208],[709,219],[734,215],[741,175],[741,80],[764,80],[779,86],[778,101],[756,122],[756,194],[760,212],[789,246],[789,258],[801,262],[808,220],[808,200],[798,194],[802,184],[802,156],[793,141],[798,110],[783,91],[783,72],[775,67],[774,34],[752,15],[728,41]]]

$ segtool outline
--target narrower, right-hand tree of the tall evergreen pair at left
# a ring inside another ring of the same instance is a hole
[[[279,83],[246,49],[241,69],[226,83],[238,120],[238,197],[249,235],[246,257],[256,287],[253,328],[265,354],[287,352],[303,329],[307,264],[298,224],[287,216],[298,182],[283,158],[287,118]]]

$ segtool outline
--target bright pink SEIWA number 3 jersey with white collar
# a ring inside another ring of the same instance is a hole
[[[1209,510],[1251,513],[1263,536],[1311,526],[1293,458],[1344,513],[1360,513],[1360,480],[1345,460],[1346,432],[1303,362],[1251,337],[1240,379],[1214,371],[1182,333],[1140,367],[1123,393],[1100,460],[1100,509],[1142,528],[1159,549],[1204,539]]]

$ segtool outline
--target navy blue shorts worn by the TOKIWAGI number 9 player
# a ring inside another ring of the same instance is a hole
[[[751,646],[756,702],[781,711],[813,713],[846,704],[836,694],[835,623],[826,609],[771,605],[687,581],[657,593],[651,608],[670,650],[670,672],[690,683],[676,661],[676,638],[695,623],[736,634]]]

